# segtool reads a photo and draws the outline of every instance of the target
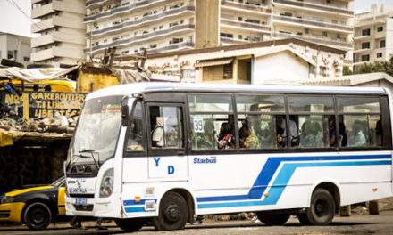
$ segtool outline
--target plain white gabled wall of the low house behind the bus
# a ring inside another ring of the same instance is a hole
[[[308,77],[308,70],[307,62],[288,51],[257,57],[253,84],[262,85],[272,80],[304,80]]]

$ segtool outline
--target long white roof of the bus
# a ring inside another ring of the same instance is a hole
[[[348,86],[307,86],[307,85],[229,85],[229,84],[191,84],[191,83],[138,83],[114,85],[89,93],[88,99],[112,95],[131,95],[152,92],[238,92],[238,93],[373,93],[384,94],[381,87]]]

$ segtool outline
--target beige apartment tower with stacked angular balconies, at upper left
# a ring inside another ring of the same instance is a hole
[[[86,1],[31,0],[31,4],[31,18],[40,20],[31,25],[31,32],[40,34],[31,39],[31,61],[59,66],[84,60]]]

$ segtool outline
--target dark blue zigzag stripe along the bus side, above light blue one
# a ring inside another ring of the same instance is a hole
[[[197,202],[212,202],[212,201],[229,201],[229,200],[246,200],[246,199],[261,199],[266,190],[272,176],[276,173],[283,161],[315,161],[315,160],[372,160],[372,159],[390,159],[391,155],[360,155],[360,156],[314,156],[314,157],[286,157],[286,158],[268,158],[262,171],[256,178],[253,187],[246,195],[231,195],[231,196],[213,196],[197,198]]]

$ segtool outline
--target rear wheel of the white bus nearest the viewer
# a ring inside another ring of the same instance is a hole
[[[311,225],[330,224],[334,217],[335,201],[328,190],[316,189],[311,197],[310,208],[305,210],[305,223]]]

